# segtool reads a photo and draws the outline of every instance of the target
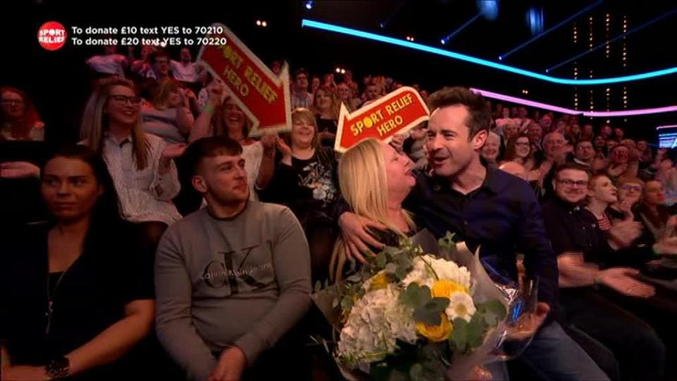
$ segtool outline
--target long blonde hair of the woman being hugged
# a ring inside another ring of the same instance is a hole
[[[353,213],[380,222],[405,237],[405,232],[398,229],[388,215],[388,178],[383,153],[382,143],[374,138],[350,147],[338,161],[338,185]],[[404,218],[410,228],[415,227],[408,212],[404,213]],[[331,255],[329,278],[341,280],[345,263],[346,249],[338,238]]]

